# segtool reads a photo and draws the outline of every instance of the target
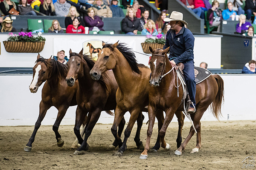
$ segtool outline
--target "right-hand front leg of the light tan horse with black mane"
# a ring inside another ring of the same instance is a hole
[[[117,153],[115,153],[115,155],[122,156],[123,152],[126,150],[126,147],[127,147],[126,142],[127,142],[128,138],[129,138],[129,136],[131,135],[132,127],[134,126],[134,123],[138,119],[139,114],[140,114],[140,109],[139,108],[136,108],[133,111],[131,111],[131,117],[130,117],[128,125],[127,125],[127,127],[125,129],[124,141],[122,143],[122,146],[117,151]]]

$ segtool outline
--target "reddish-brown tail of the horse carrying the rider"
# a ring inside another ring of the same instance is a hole
[[[222,104],[222,101],[224,102],[224,81],[218,74],[214,74],[212,76],[217,81],[218,93],[217,93],[217,96],[213,99],[213,102],[211,105],[211,112],[213,113],[213,116],[215,116],[219,120],[219,116],[222,116],[221,104]]]

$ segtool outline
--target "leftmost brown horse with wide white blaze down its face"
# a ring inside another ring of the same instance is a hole
[[[58,127],[61,120],[65,116],[67,109],[76,104],[76,91],[78,89],[78,82],[75,82],[73,87],[69,87],[65,78],[67,76],[67,65],[64,65],[54,59],[44,59],[38,54],[36,64],[33,67],[33,79],[29,85],[31,93],[36,93],[39,86],[45,82],[42,89],[42,100],[39,105],[39,116],[35,123],[35,128],[29,142],[24,147],[25,151],[31,151],[32,143],[35,140],[35,135],[41,126],[41,122],[46,115],[47,110],[54,106],[58,109],[57,119],[52,126],[55,132],[58,147],[63,146],[64,141],[58,133]]]

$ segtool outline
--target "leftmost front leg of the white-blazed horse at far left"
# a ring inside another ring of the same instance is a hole
[[[34,142],[35,140],[35,135],[39,129],[39,127],[41,126],[41,122],[43,121],[44,119],[44,116],[46,115],[46,112],[47,110],[51,107],[51,105],[47,105],[45,104],[43,101],[40,102],[40,105],[39,105],[39,116],[38,116],[38,119],[37,121],[35,122],[35,127],[34,127],[34,131],[31,135],[31,137],[29,138],[29,142],[26,144],[26,146],[24,147],[24,150],[26,152],[30,152],[31,149],[32,149],[32,143]]]

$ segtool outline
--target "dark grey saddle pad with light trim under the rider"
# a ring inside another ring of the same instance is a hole
[[[183,73],[180,71],[180,69],[178,69],[178,71],[180,72],[180,75],[183,79],[183,83],[186,85],[186,81],[185,81],[185,77],[183,75]],[[195,83],[201,83],[202,81],[204,81],[205,79],[207,79],[210,75],[212,74],[212,72],[210,72],[209,70],[205,69],[205,68],[201,68],[201,67],[195,67]]]

